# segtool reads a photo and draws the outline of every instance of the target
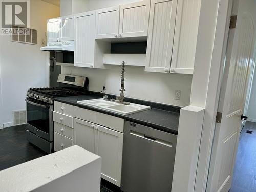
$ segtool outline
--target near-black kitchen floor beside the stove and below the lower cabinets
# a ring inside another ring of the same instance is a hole
[[[44,155],[47,154],[27,141],[26,125],[0,129],[0,171]],[[113,186],[103,181],[100,192],[112,192],[106,187]]]

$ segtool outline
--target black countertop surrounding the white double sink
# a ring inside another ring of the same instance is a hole
[[[151,106],[151,109],[145,110],[142,112],[133,113],[130,115],[122,115],[122,114],[117,114],[114,112],[109,112],[109,111],[105,111],[105,110],[101,110],[101,109],[93,108],[91,106],[81,105],[81,104],[77,103],[77,101],[97,99],[97,98],[102,98],[102,94],[88,94],[88,95],[78,95],[78,96],[70,96],[70,97],[57,97],[57,98],[54,98],[54,100],[63,102],[63,103],[67,103],[70,105],[79,106],[80,108],[85,108],[85,109],[113,115],[116,117],[120,117],[127,121],[142,124],[145,126],[150,126],[157,130],[161,130],[161,131],[165,131],[165,132],[173,133],[173,134],[178,134],[180,108],[163,105],[163,104],[157,104],[157,103],[153,103],[153,102],[146,102],[146,101],[137,100],[137,99],[126,98],[125,100],[127,102],[133,102],[133,103],[137,103],[137,104]]]

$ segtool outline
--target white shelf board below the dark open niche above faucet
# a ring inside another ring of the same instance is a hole
[[[105,53],[103,63],[108,65],[121,65],[122,61],[126,66],[145,66],[146,54],[113,54]]]

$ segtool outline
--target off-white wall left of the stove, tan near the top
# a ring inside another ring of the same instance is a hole
[[[30,27],[37,29],[38,45],[12,42],[10,36],[0,36],[0,99],[2,122],[12,122],[12,111],[26,108],[24,99],[31,87],[49,84],[49,53],[40,51],[41,39],[46,39],[47,19],[59,16],[59,7],[40,0],[30,1]],[[2,126],[0,120],[0,127]]]

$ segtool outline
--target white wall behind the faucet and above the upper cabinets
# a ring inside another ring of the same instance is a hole
[[[60,8],[67,7],[66,0],[60,1]],[[136,2],[136,0],[73,0],[73,14],[83,11],[91,11],[120,4]],[[74,4],[83,7],[74,9]],[[60,11],[62,13],[62,10]],[[66,14],[69,14],[68,12]],[[64,16],[64,15],[62,15]],[[101,91],[106,87],[105,93],[120,94],[120,66],[111,66],[110,69],[91,69],[77,67],[61,67],[61,73],[87,76],[89,78],[89,90]],[[176,106],[187,106],[190,100],[191,75],[163,74],[144,72],[143,67],[126,66],[125,68],[125,96],[143,99],[153,102],[165,103]],[[175,90],[181,90],[181,100],[175,100]]]

